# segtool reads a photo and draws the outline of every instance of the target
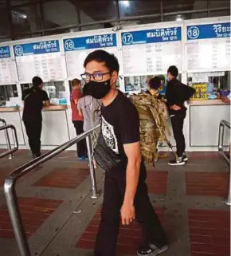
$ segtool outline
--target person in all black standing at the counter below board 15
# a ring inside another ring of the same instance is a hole
[[[41,156],[41,109],[44,102],[45,106],[49,106],[49,96],[42,90],[41,77],[33,77],[32,84],[31,88],[22,92],[22,100],[24,101],[22,120],[28,136],[29,148],[33,158],[36,158]]]

